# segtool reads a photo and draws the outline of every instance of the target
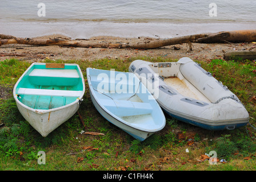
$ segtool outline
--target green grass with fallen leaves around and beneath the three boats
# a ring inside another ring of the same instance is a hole
[[[127,72],[131,61],[142,59],[152,62],[177,61],[163,57],[134,57],[132,59],[102,59],[95,61],[63,61],[57,63],[79,64],[83,76],[86,68],[115,69]],[[202,68],[213,74],[234,92],[247,111],[250,123],[255,126],[256,107],[250,98],[256,96],[256,65],[253,61],[211,60],[201,63]],[[46,60],[46,62],[53,62]],[[6,89],[7,97],[0,97],[0,170],[210,170],[235,171],[256,169],[255,131],[246,127],[231,131],[206,131],[177,121],[166,115],[165,128],[144,142],[138,142],[118,127],[112,125],[95,109],[86,83],[85,95],[79,108],[85,127],[77,114],[63,123],[46,138],[29,125],[19,113],[11,90],[30,63],[10,59],[0,62],[0,86]],[[249,81],[250,80],[250,81]],[[11,89],[10,89],[11,88]],[[81,130],[95,131],[105,135],[80,134]],[[176,131],[186,134],[196,132],[194,144],[187,139],[178,139]],[[84,150],[91,146],[94,150]],[[186,148],[189,152],[186,152]],[[225,164],[209,165],[198,162],[202,154],[216,151]],[[45,151],[46,164],[38,164],[38,151]],[[239,153],[238,155],[234,155]],[[250,156],[250,160],[244,158]],[[78,162],[78,158],[82,159]]]

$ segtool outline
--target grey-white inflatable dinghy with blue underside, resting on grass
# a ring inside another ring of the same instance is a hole
[[[231,130],[249,122],[238,97],[189,57],[169,63],[135,60],[129,72],[145,85],[158,82],[147,89],[167,114],[180,121],[208,130]]]

